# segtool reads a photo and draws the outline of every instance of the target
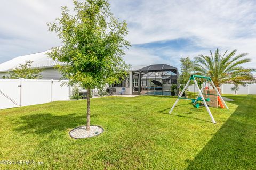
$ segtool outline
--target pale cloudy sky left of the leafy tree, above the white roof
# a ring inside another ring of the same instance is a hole
[[[60,6],[71,1],[3,0],[0,6],[0,63],[19,55],[60,45],[46,22],[60,16]]]

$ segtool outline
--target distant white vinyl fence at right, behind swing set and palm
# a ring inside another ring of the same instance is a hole
[[[233,84],[223,84],[221,88],[222,94],[234,94],[235,92],[231,90],[231,87],[234,87]],[[194,92],[194,84],[188,87],[188,91]],[[195,88],[195,92],[197,89]],[[238,91],[236,94],[249,94],[249,95],[256,95],[256,84],[246,84],[245,86],[239,85]]]

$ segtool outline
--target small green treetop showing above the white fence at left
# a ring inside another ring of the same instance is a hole
[[[34,68],[31,69],[31,64],[34,61],[26,61],[25,64],[19,64],[18,67],[15,67],[13,69],[9,69],[10,72],[10,78],[11,79],[41,79],[42,75],[39,73],[43,71],[43,69]]]

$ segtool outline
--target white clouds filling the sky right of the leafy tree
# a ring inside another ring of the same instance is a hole
[[[112,0],[114,13],[125,19],[133,44],[177,38],[195,38],[199,47],[238,49],[248,52],[256,65],[255,1],[118,1]],[[134,6],[136,4],[137,6]],[[172,56],[193,56],[209,50],[188,52],[166,50]],[[139,56],[138,56],[139,57]]]

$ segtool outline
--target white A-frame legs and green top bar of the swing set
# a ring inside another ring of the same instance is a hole
[[[211,79],[210,77],[206,77],[206,76],[202,76],[202,75],[191,75],[191,77],[189,78],[189,80],[188,80],[186,86],[183,88],[183,90],[181,91],[181,93],[180,93],[180,95],[178,96],[177,100],[175,101],[174,105],[172,106],[172,108],[171,108],[169,114],[172,113],[172,111],[173,111],[174,107],[177,105],[179,99],[188,99],[188,98],[182,98],[181,96],[182,96],[183,92],[185,92],[185,90],[188,88],[189,82],[190,82],[191,80],[193,80],[194,83],[195,83],[195,86],[196,86],[196,88],[197,88],[197,91],[198,91],[198,93],[199,93],[199,96],[201,97],[202,101],[204,102],[204,106],[205,106],[207,112],[209,113],[209,115],[210,115],[210,117],[211,117],[212,123],[215,124],[216,122],[215,122],[215,120],[214,120],[214,118],[213,118],[213,116],[212,116],[212,113],[211,113],[211,111],[210,111],[210,109],[209,109],[209,107],[208,107],[208,105],[207,105],[207,103],[206,103],[206,101],[205,101],[205,99],[204,99],[204,96],[203,96],[203,94],[202,94],[201,89],[198,87],[198,84],[197,84],[195,78],[203,78],[203,79],[207,79],[208,81],[210,81],[211,86],[215,89],[215,91],[217,92],[218,96],[220,97],[222,103],[223,103],[223,104],[225,105],[225,107],[228,109],[228,106],[226,105],[225,101],[224,101],[223,98],[221,97],[219,91],[218,91],[217,88],[215,87],[215,85],[214,85],[214,83],[213,83],[213,81],[212,81],[212,79]]]

